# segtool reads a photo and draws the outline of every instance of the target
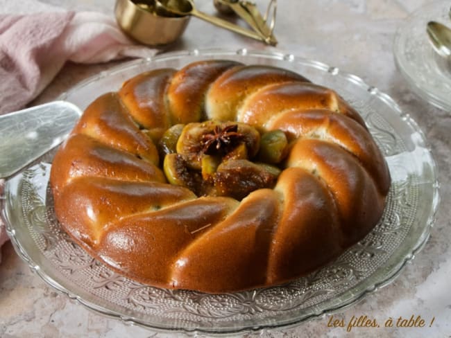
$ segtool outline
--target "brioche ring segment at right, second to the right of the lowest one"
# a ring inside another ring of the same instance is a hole
[[[363,238],[380,219],[385,196],[356,157],[339,145],[300,139],[291,149],[287,166],[304,168],[328,186],[341,218],[345,247]]]

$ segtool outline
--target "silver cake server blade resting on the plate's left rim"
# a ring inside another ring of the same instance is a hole
[[[53,101],[0,115],[0,178],[11,176],[60,144],[81,114],[72,103]]]

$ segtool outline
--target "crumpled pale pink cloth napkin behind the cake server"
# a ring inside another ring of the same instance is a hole
[[[157,51],[132,42],[100,12],[0,15],[0,114],[22,109],[67,61],[108,62]],[[2,188],[0,179],[0,196]],[[0,248],[7,239],[0,220]]]

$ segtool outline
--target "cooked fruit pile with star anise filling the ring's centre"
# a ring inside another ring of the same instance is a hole
[[[174,125],[159,142],[169,183],[198,196],[239,200],[254,190],[273,188],[287,148],[280,130],[260,134],[246,123],[219,121]]]

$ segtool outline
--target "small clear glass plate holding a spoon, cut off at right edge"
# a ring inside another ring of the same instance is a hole
[[[451,27],[450,1],[435,1],[408,17],[395,35],[393,53],[400,73],[418,96],[451,111],[451,59],[438,55],[426,33],[428,21]]]

